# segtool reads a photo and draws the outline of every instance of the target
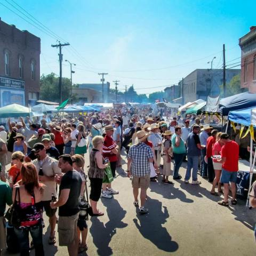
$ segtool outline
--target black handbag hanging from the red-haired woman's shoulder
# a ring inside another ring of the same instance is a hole
[[[16,199],[17,194],[18,194],[18,201]],[[16,188],[14,202],[4,215],[4,218],[7,219],[10,225],[12,225],[13,227],[20,227],[21,219],[20,219],[19,210],[20,210],[20,189]]]

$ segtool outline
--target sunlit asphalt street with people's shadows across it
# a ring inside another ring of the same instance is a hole
[[[88,163],[86,155],[85,166]],[[185,184],[183,178],[174,181],[174,185],[165,185],[159,177],[148,189],[149,213],[141,215],[133,205],[125,163],[123,156],[122,168],[117,169],[113,181],[119,195],[100,199],[99,209],[105,215],[87,222],[88,251],[79,255],[256,255],[253,234],[256,210],[246,207],[245,201],[238,200],[235,206],[220,206],[217,204],[220,197],[209,193],[211,184],[201,177],[199,186]],[[182,177],[185,168],[186,163],[180,169]],[[87,183],[89,186],[90,182]],[[57,244],[47,244],[46,218],[45,225],[45,255],[68,255],[66,247],[58,246],[58,234]],[[30,254],[34,255],[34,250]]]

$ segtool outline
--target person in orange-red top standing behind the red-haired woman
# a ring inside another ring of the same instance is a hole
[[[9,183],[12,188],[16,182],[22,179],[21,177],[21,167],[24,162],[25,155],[21,151],[16,151],[12,153],[12,166],[8,172]]]

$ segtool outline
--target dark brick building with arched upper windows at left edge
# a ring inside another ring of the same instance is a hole
[[[0,106],[28,105],[38,100],[40,81],[39,37],[19,30],[0,18]]]

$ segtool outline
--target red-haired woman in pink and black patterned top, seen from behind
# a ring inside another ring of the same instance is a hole
[[[19,227],[14,227],[20,254],[29,255],[29,233],[33,239],[35,255],[43,256],[43,184],[38,181],[36,166],[25,163],[21,167],[22,182],[13,187],[12,199],[19,202]]]

